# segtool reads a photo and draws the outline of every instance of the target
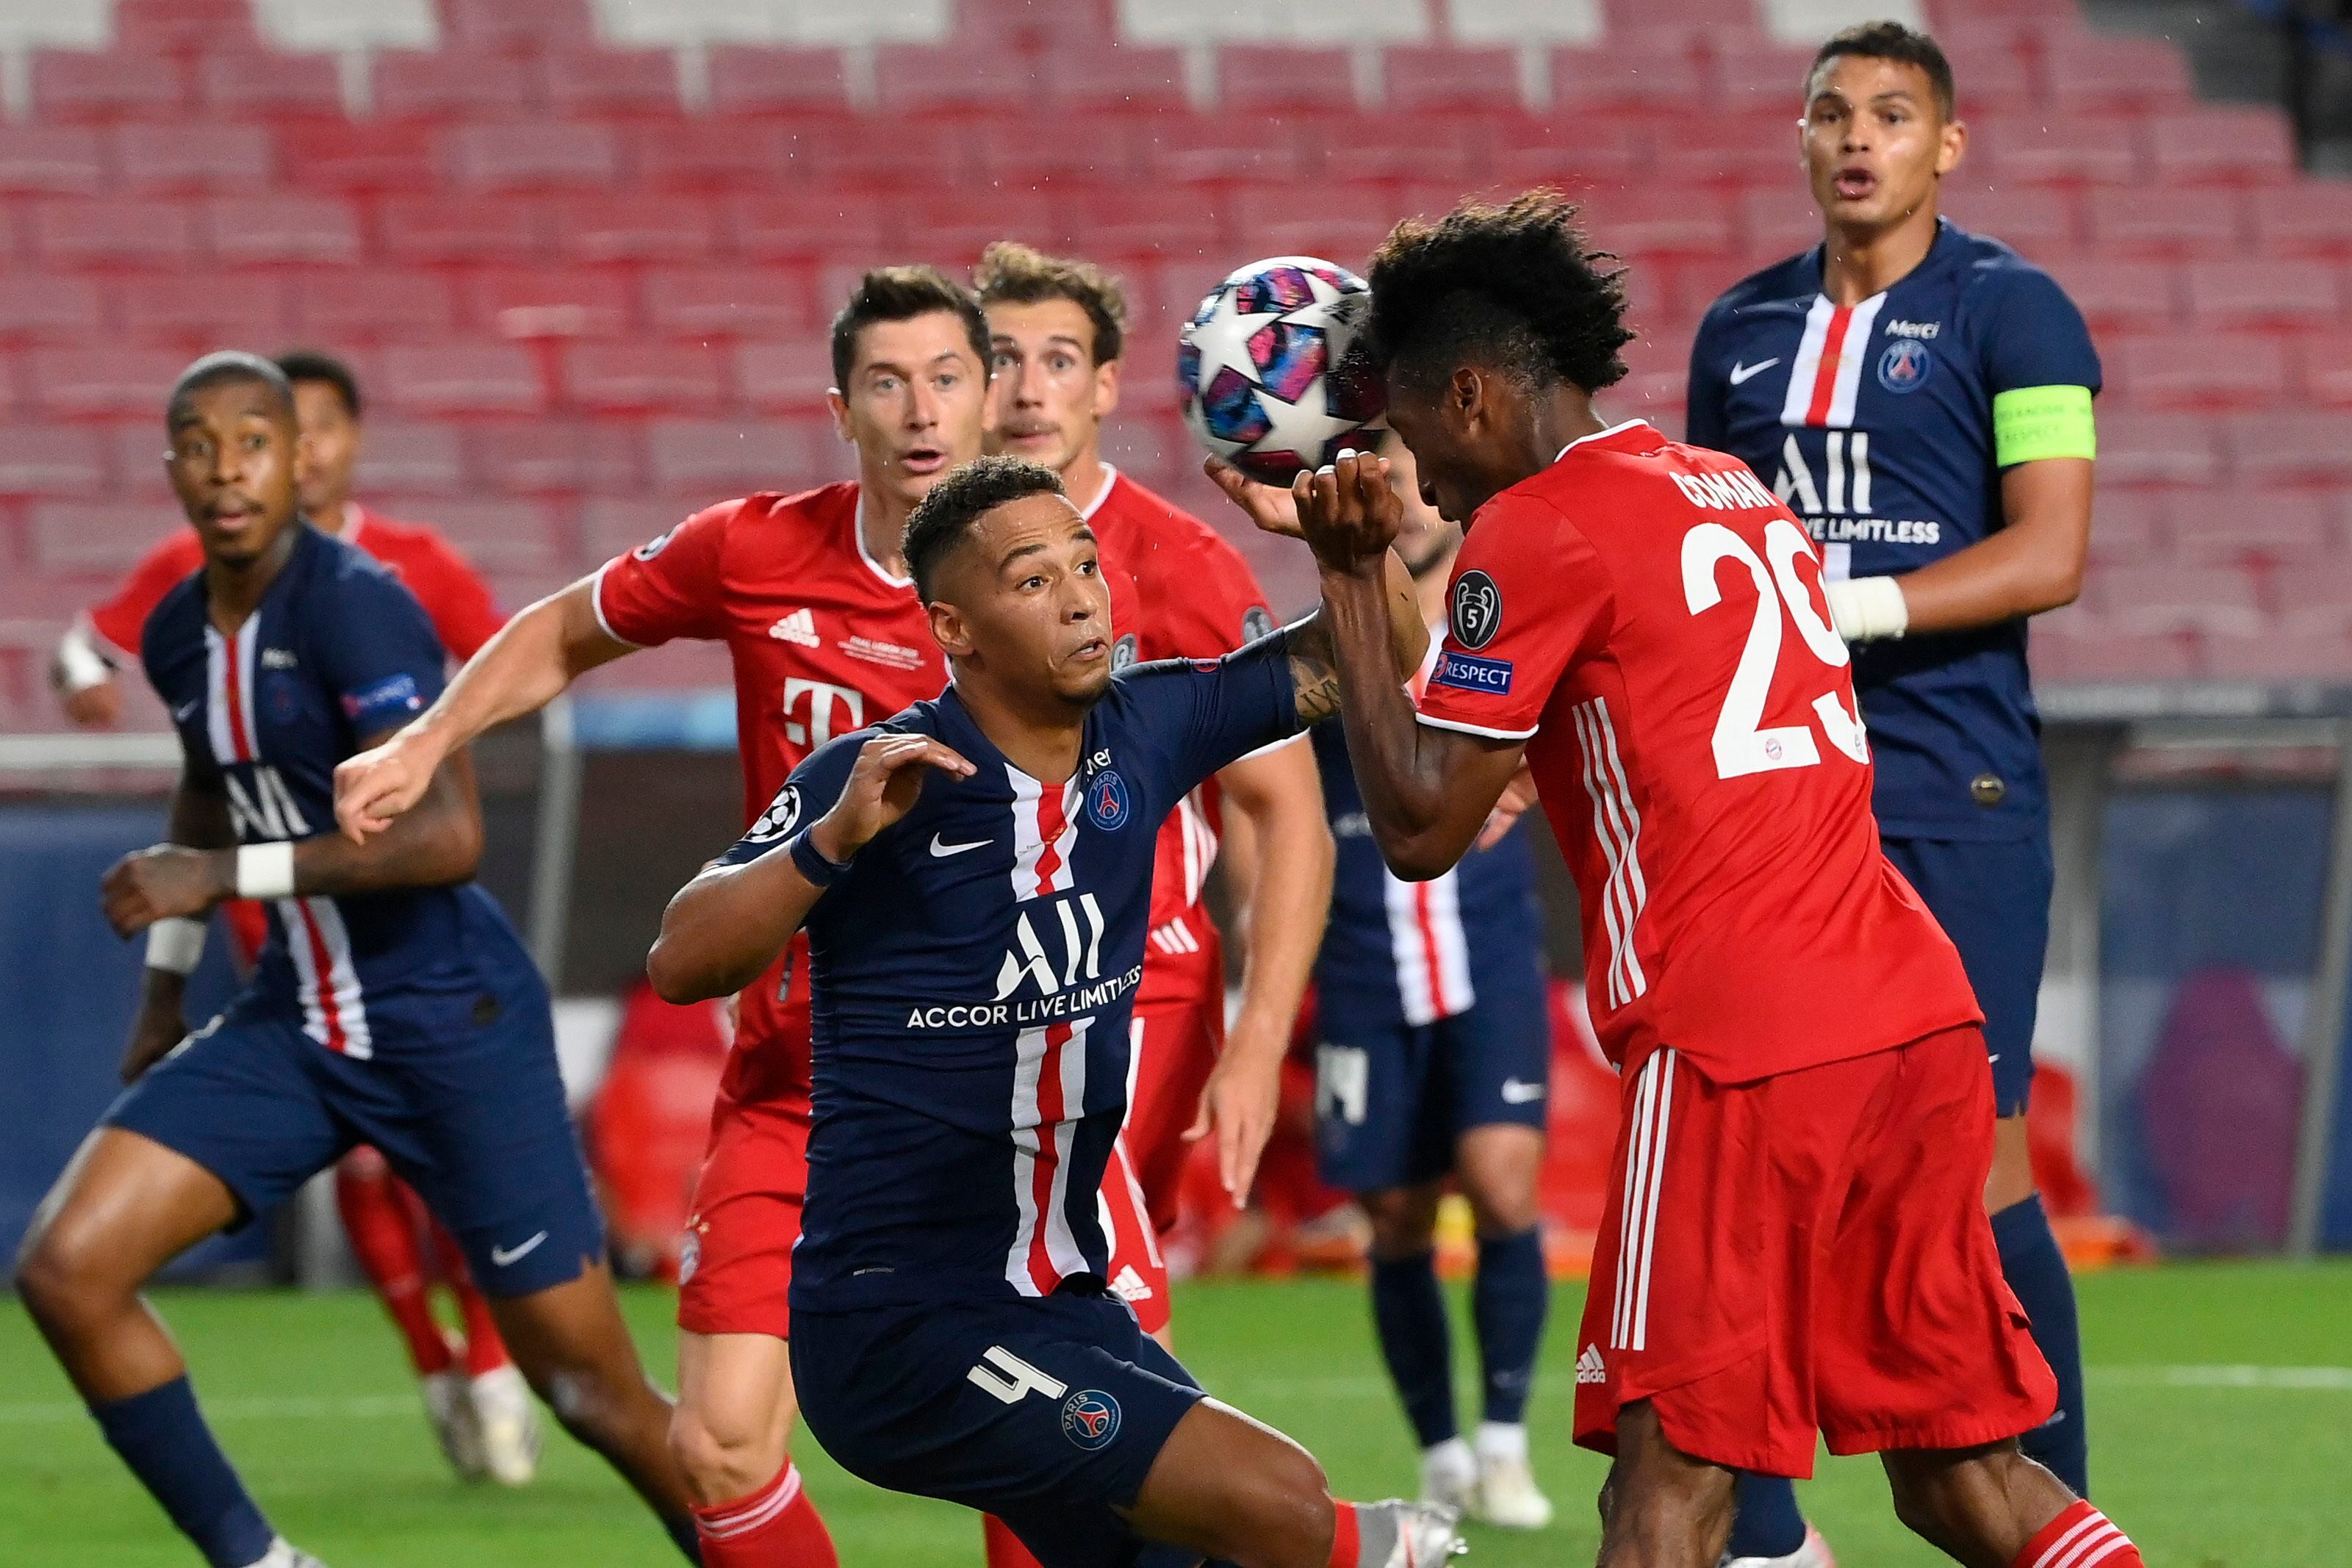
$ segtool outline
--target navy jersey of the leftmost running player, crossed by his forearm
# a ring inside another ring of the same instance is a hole
[[[334,764],[409,722],[442,686],[442,644],[400,578],[296,527],[278,581],[233,635],[214,628],[198,569],[141,637],[188,771],[228,795],[238,844],[334,832]],[[273,898],[266,910],[270,938],[252,994],[299,1009],[303,1032],[346,1056],[463,1034],[456,1025],[482,994],[485,969],[529,964],[473,884]]]

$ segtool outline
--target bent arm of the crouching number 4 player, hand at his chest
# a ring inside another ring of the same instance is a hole
[[[971,776],[971,764],[931,736],[877,733],[858,743],[833,809],[793,832],[802,797],[840,778],[837,750],[849,743],[844,736],[795,769],[743,842],[670,898],[644,957],[644,978],[663,1001],[729,997],[757,980],[856,853],[913,811],[929,769]],[[776,849],[783,853],[769,853]]]

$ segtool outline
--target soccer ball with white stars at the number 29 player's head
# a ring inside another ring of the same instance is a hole
[[[1315,256],[1251,261],[1209,289],[1176,343],[1176,397],[1202,447],[1289,484],[1341,447],[1371,449],[1381,378],[1357,346],[1371,292]]]

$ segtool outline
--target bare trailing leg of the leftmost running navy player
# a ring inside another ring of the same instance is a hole
[[[694,1502],[670,1455],[670,1401],[637,1361],[612,1269],[590,1262],[579,1279],[494,1300],[492,1312],[515,1366],[564,1432],[604,1455],[691,1559]]]

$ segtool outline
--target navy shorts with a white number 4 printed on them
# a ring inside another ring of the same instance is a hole
[[[849,1474],[995,1514],[1044,1568],[1124,1568],[1115,1509],[1200,1385],[1115,1295],[793,1305],[793,1385]]]

